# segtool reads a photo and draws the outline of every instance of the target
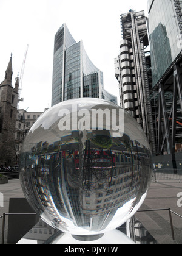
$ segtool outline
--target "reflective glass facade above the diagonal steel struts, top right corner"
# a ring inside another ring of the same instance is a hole
[[[153,87],[182,51],[180,0],[149,0],[149,37]]]

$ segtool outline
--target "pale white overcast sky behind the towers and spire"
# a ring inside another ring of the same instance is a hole
[[[19,107],[51,107],[54,37],[63,23],[104,73],[104,88],[118,96],[114,58],[120,52],[120,15],[145,10],[147,0],[0,0],[0,83],[13,53],[13,86],[27,50]],[[119,103],[119,99],[118,99]]]

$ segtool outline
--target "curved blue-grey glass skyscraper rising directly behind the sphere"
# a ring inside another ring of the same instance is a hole
[[[66,24],[55,35],[52,106],[73,98],[101,98],[117,104],[104,90],[103,73],[86,54],[83,42],[73,39]]]

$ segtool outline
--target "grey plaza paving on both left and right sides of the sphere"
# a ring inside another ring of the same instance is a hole
[[[178,207],[177,194],[182,192],[182,185],[177,181],[152,182],[149,193],[140,210],[171,208],[172,211],[182,215],[182,207]],[[4,207],[0,207],[0,216],[8,213],[10,198],[24,198],[19,180],[9,180],[8,184],[0,185],[0,193],[4,194]],[[169,212],[138,212],[136,218],[149,230],[149,233],[160,244],[182,244],[182,219],[172,215],[174,224],[175,242],[172,240]],[[7,221],[6,221],[7,222]],[[0,219],[1,237],[2,219]],[[5,226],[7,232],[7,223]]]

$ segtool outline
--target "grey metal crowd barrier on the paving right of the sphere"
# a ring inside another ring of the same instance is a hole
[[[153,171],[152,181],[159,182],[160,180],[176,180],[182,182],[182,173],[179,174],[175,169],[158,169]]]

